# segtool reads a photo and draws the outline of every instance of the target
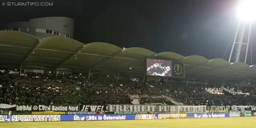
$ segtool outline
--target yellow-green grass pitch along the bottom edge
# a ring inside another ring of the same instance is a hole
[[[256,116],[164,120],[1,122],[0,128],[256,128]]]

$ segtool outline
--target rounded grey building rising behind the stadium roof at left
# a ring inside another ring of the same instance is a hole
[[[9,22],[0,30],[19,31],[39,39],[48,37],[74,37],[74,20],[68,17],[44,17],[30,19],[28,22]]]

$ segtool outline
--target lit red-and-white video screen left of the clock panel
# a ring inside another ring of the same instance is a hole
[[[170,60],[147,59],[148,76],[172,77],[172,62]]]

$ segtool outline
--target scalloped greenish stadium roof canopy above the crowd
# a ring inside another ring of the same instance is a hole
[[[242,62],[184,57],[173,52],[156,54],[144,48],[119,48],[101,42],[84,45],[63,37],[40,40],[23,32],[0,31],[0,67],[144,76],[146,58],[184,62],[185,78],[190,80],[246,80],[256,74],[255,65]]]

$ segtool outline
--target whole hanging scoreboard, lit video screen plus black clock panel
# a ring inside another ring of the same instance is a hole
[[[184,62],[147,58],[147,76],[184,78]]]

